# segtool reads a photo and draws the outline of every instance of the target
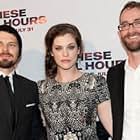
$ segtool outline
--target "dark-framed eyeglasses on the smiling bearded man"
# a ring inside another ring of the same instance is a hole
[[[122,23],[118,26],[119,31],[125,31],[130,28],[130,25],[132,25],[133,28],[140,28],[140,20],[136,20],[132,23]]]

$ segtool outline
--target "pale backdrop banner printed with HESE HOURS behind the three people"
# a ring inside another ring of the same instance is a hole
[[[35,81],[45,78],[44,37],[57,23],[76,25],[85,52],[78,68],[106,76],[107,69],[125,59],[117,26],[127,0],[0,0],[0,24],[17,29],[23,39],[17,71]]]

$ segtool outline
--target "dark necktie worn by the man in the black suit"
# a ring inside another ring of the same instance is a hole
[[[4,77],[4,81],[5,81],[5,85],[7,87],[7,91],[10,97],[10,101],[11,101],[11,108],[12,108],[12,129],[14,130],[15,128],[15,97],[12,91],[12,87],[11,87],[11,83],[9,81],[9,77],[6,76]]]

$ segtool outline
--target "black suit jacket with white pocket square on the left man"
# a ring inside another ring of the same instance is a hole
[[[0,139],[38,140],[34,133],[39,130],[41,121],[38,110],[38,89],[35,82],[15,74],[15,128],[12,128],[12,109],[4,80],[0,78]],[[38,120],[38,118],[40,120]],[[40,125],[40,124],[39,124]]]

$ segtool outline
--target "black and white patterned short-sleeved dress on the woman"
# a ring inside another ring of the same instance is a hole
[[[47,78],[38,88],[48,140],[98,140],[97,105],[110,99],[105,78],[93,73],[68,83]]]

